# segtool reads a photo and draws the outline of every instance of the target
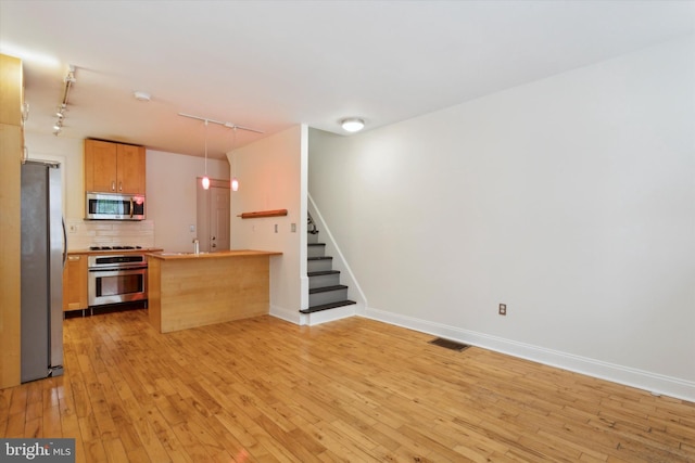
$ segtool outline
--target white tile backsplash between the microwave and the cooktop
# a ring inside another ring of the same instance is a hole
[[[89,246],[154,247],[152,220],[81,220],[67,219],[67,250],[88,249]]]

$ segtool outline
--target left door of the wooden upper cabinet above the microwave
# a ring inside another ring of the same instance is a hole
[[[85,140],[85,191],[116,193],[117,144]]]

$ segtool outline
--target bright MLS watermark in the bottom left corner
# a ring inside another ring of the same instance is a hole
[[[75,439],[0,439],[0,462],[75,463]]]

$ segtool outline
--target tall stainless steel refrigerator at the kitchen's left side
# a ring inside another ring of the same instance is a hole
[[[63,374],[66,254],[59,164],[22,166],[22,383]]]

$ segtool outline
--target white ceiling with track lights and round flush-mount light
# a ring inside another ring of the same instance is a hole
[[[694,31],[694,1],[0,0],[27,131],[52,132],[72,64],[60,137],[197,156],[204,125],[179,112],[265,136],[342,133],[348,116],[369,130]],[[208,127],[211,157],[264,137],[232,132]]]

